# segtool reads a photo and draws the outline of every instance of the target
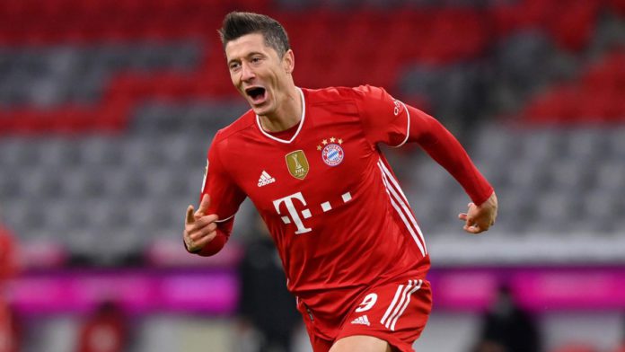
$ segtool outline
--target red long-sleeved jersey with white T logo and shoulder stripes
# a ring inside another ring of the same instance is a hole
[[[220,130],[208,151],[202,194],[219,234],[201,254],[226,242],[233,216],[249,197],[268,225],[287,287],[334,329],[367,286],[425,277],[424,235],[378,145],[418,142],[453,174],[476,204],[492,193],[462,146],[436,119],[383,89],[298,89],[299,124],[270,134],[248,111]]]

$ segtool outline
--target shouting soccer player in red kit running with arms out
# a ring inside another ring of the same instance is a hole
[[[379,145],[417,143],[445,167],[472,200],[459,215],[469,233],[495,222],[494,190],[436,119],[383,89],[297,87],[295,55],[277,21],[229,13],[219,33],[251,110],[208,150],[200,205],[187,208],[187,251],[221,250],[249,197],[315,352],[412,351],[431,308],[430,262]]]

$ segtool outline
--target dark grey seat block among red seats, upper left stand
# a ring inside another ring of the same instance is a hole
[[[200,58],[200,45],[185,41],[4,49],[0,51],[0,106],[97,106],[110,79],[119,72],[190,73]]]

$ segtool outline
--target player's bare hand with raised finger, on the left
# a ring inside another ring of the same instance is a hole
[[[198,211],[194,211],[193,206],[187,207],[183,233],[187,251],[201,251],[217,235],[216,220],[219,217],[216,214],[207,215],[209,206],[210,196],[205,195],[199,204]]]

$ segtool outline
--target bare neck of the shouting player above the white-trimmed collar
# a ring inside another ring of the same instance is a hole
[[[278,103],[277,110],[261,115],[260,125],[268,132],[280,132],[297,125],[302,119],[302,97],[295,85],[286,92]]]

